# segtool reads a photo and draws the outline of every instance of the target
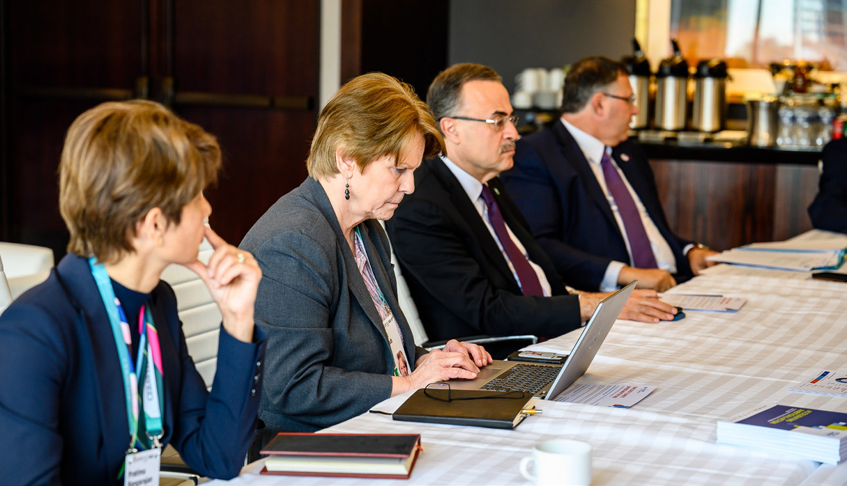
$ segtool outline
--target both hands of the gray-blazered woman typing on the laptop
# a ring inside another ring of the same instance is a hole
[[[391,377],[394,380],[391,395],[453,378],[473,379],[479,373],[479,367],[490,362],[491,355],[484,347],[450,340],[444,346],[444,351],[433,350],[419,357],[415,371],[409,376]]]

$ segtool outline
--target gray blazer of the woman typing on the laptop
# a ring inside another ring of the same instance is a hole
[[[426,351],[414,345],[397,304],[388,237],[372,219],[359,230],[411,370]],[[394,368],[388,337],[323,186],[307,178],[280,197],[240,247],[262,268],[256,323],[268,334],[263,444],[277,432],[343,422],[387,399]]]

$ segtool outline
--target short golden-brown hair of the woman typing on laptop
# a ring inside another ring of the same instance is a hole
[[[400,163],[416,133],[424,136],[424,157],[444,152],[435,119],[412,86],[382,73],[357,76],[321,110],[306,168],[314,179],[337,174],[339,147],[361,170],[386,155]]]

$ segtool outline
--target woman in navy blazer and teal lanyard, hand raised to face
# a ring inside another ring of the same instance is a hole
[[[241,470],[262,385],[261,270],[203,224],[219,167],[214,136],[155,102],[102,103],[71,124],[59,165],[69,254],[0,316],[3,483],[123,483],[132,450],[167,444],[202,475]],[[197,272],[223,315],[211,393],[159,279],[171,263]]]

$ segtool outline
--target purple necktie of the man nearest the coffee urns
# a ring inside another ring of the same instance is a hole
[[[617,174],[617,168],[612,164],[612,159],[606,151],[600,159],[600,167],[603,169],[603,177],[606,178],[606,188],[617,204],[617,211],[623,220],[623,229],[627,232],[629,249],[633,252],[633,266],[635,268],[658,268],[656,256],[650,246],[650,238],[641,223],[641,215],[635,206],[633,197],[629,194],[627,185],[623,183],[621,174]]]

